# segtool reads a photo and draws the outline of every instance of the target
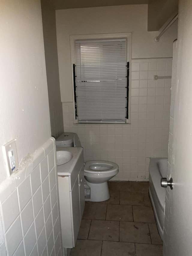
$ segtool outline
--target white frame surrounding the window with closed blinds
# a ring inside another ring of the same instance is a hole
[[[126,38],[127,41],[127,50],[126,50],[126,63],[129,62],[129,69],[131,67],[131,39],[132,33],[113,33],[113,34],[90,34],[90,35],[70,35],[70,57],[71,57],[71,79],[73,87],[73,64],[76,63],[76,50],[75,50],[75,41],[76,40],[94,40],[94,39],[113,39],[113,38]],[[131,106],[131,72],[129,70],[129,97],[128,97],[128,119],[126,119],[125,124],[130,124],[130,106]],[[74,87],[73,87],[73,114],[74,114],[74,123],[75,124],[97,124],[102,125],[102,123],[79,123],[78,119],[75,119],[75,102],[74,102]],[[103,123],[106,124],[106,123]],[[108,123],[114,124],[114,123]],[[123,123],[116,123],[123,124]]]

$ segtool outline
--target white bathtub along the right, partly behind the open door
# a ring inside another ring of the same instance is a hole
[[[149,197],[155,213],[158,231],[163,240],[166,188],[161,187],[162,177],[167,177],[167,158],[150,158]]]

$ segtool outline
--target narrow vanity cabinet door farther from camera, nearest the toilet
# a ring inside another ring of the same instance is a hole
[[[80,207],[80,221],[82,219],[85,208],[85,189],[84,189],[84,164],[79,172],[79,207]]]

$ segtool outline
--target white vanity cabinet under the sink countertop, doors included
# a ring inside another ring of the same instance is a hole
[[[64,248],[73,248],[85,207],[84,159],[81,150],[69,175],[58,174],[61,232]]]

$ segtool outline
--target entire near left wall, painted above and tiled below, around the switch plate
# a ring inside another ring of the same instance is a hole
[[[0,145],[16,139],[20,163],[7,177],[0,150],[0,251],[51,255],[59,251],[60,228],[41,3],[2,0],[0,5]]]

